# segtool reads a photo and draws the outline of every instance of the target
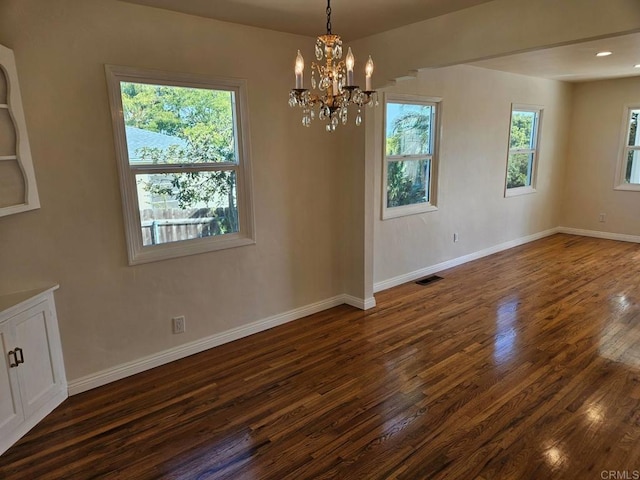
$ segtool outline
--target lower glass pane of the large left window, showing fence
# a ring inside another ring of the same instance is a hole
[[[143,245],[236,233],[235,172],[136,175]]]

